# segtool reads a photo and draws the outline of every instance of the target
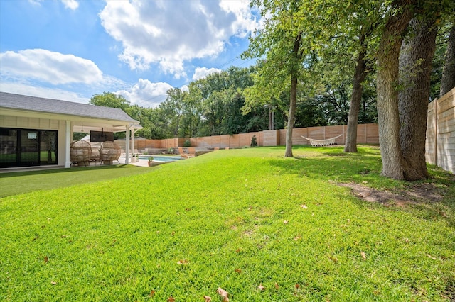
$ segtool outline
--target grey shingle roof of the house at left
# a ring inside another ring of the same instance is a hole
[[[9,94],[7,92],[0,91],[0,108],[1,107],[138,123],[138,121],[131,118],[127,113],[119,108],[80,104],[56,99],[45,99],[36,96],[24,96],[22,94]]]

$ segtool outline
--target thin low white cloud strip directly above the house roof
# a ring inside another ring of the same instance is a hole
[[[47,99],[58,99],[63,101],[74,101],[76,103],[88,104],[90,99],[81,97],[75,92],[65,91],[62,89],[45,88],[31,86],[21,83],[1,82],[0,91],[9,92],[10,94],[24,94],[26,96],[38,96]]]

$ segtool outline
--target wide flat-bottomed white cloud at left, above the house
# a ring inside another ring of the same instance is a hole
[[[42,49],[2,52],[0,65],[1,74],[38,79],[54,85],[95,84],[103,78],[101,70],[90,60]]]

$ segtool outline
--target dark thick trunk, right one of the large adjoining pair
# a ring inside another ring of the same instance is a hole
[[[425,162],[425,136],[432,61],[436,49],[434,21],[410,22],[412,37],[402,43],[400,53],[400,145],[405,160],[405,179],[429,177]]]

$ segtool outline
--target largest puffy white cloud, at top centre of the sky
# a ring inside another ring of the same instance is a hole
[[[259,23],[249,1],[108,1],[102,26],[122,43],[119,59],[131,69],[158,64],[186,77],[184,62],[216,56],[230,37],[245,37]]]

